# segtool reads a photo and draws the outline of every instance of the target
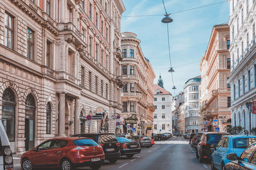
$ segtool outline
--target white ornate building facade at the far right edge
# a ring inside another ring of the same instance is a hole
[[[228,22],[232,126],[241,126],[248,132],[256,127],[256,115],[252,113],[252,103],[256,101],[255,5],[254,0],[231,0]]]

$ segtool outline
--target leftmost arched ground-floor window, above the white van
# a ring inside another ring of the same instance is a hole
[[[15,141],[15,95],[13,90],[8,88],[3,92],[2,97],[2,122],[9,141]]]

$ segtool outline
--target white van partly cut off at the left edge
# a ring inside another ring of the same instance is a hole
[[[2,121],[0,120],[0,169],[13,170],[12,150],[8,136],[4,130]]]

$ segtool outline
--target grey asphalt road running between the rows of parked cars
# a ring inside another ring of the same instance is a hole
[[[188,139],[173,137],[168,141],[156,141],[151,148],[143,148],[140,154],[134,155],[132,159],[121,157],[115,164],[108,161],[100,168],[106,169],[131,169],[131,170],[199,170],[211,169],[208,163],[200,164],[195,156],[195,150],[189,147]],[[15,170],[20,170],[19,160],[15,159]],[[90,169],[80,167],[78,169]]]

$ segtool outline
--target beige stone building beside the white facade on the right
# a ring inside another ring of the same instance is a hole
[[[228,24],[214,25],[209,45],[200,62],[200,115],[207,131],[226,131],[230,124],[230,33]],[[218,120],[213,125],[212,120]],[[207,127],[207,128],[206,128]]]

